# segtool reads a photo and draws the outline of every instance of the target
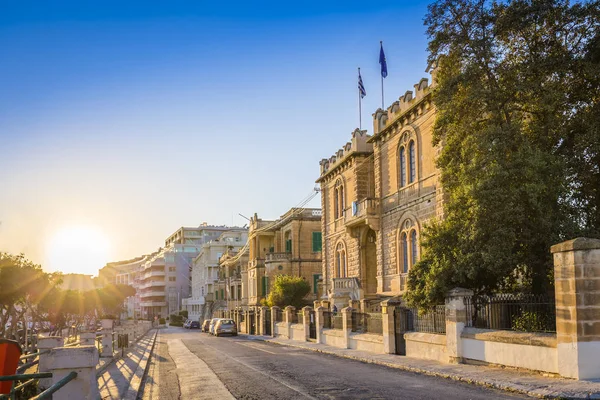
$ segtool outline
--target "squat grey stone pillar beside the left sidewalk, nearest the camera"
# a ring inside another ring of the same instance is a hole
[[[98,349],[94,346],[58,347],[50,351],[49,365],[52,384],[56,384],[69,373],[77,377],[52,395],[53,400],[96,400],[100,398],[96,365]]]

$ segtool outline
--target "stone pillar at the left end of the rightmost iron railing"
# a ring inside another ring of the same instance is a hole
[[[446,296],[446,351],[451,364],[462,362],[462,331],[467,323],[465,297],[472,296],[469,289],[454,288]]]

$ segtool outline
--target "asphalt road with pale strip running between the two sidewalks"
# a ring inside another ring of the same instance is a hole
[[[524,399],[521,395],[244,336],[161,330],[142,398]]]

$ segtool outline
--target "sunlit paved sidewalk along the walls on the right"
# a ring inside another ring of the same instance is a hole
[[[550,378],[533,372],[510,368],[468,364],[442,364],[437,361],[420,360],[394,354],[373,354],[366,351],[339,349],[324,344],[299,342],[279,337],[243,336],[252,340],[302,348],[390,368],[493,387],[509,392],[523,393],[543,399],[600,399],[600,382]]]

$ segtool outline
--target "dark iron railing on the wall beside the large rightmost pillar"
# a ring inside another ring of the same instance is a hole
[[[465,298],[467,326],[523,332],[556,332],[553,296],[497,294]]]

